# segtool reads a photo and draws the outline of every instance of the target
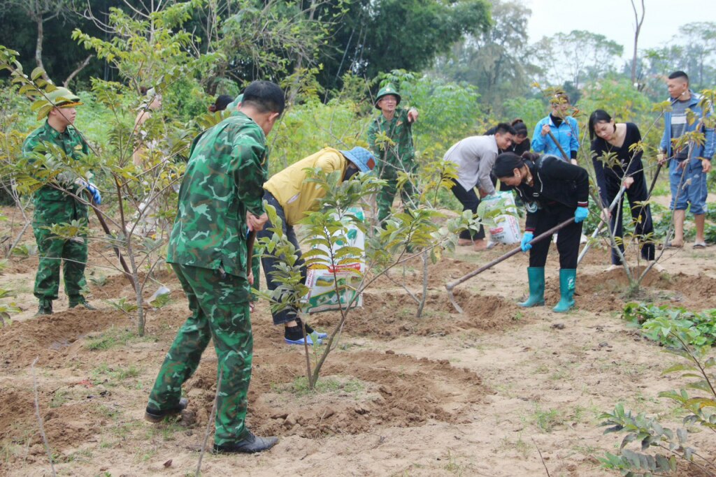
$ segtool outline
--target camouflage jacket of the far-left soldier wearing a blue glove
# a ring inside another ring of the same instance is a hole
[[[68,158],[82,160],[89,154],[89,146],[82,136],[72,126],[64,132],[59,132],[49,125],[47,121],[28,134],[22,144],[22,154],[32,161],[32,153],[37,149],[44,152],[42,144],[52,143],[59,146]],[[62,184],[64,189],[76,193],[77,185]],[[38,225],[59,224],[87,217],[87,205],[77,202],[71,195],[44,185],[32,196],[35,206],[33,223]]]

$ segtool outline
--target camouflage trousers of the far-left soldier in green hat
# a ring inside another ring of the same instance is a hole
[[[33,227],[39,265],[35,275],[34,295],[40,300],[57,300],[59,266],[64,262],[64,292],[70,298],[82,295],[87,287],[84,267],[87,265],[87,237],[65,240],[53,235],[42,225]]]

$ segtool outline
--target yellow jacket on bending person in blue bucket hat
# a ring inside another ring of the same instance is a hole
[[[348,159],[338,149],[324,147],[316,154],[291,164],[278,174],[274,174],[263,188],[276,197],[286,214],[286,225],[295,225],[304,217],[305,212],[315,210],[318,199],[325,191],[313,182],[306,182],[306,170],[320,168],[326,174],[334,171],[345,172]]]

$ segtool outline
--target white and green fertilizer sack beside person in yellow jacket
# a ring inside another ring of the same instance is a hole
[[[354,215],[361,221],[365,217],[361,207],[350,207],[346,214]],[[345,235],[348,241],[335,241],[332,255],[335,256],[336,252],[343,247],[355,247],[356,253],[342,256],[340,265],[332,265],[326,258],[321,265],[309,267],[306,275],[306,286],[309,287],[309,292],[304,297],[306,313],[347,308],[351,302],[351,308],[363,305],[363,295],[356,296],[355,290],[365,271],[365,234],[347,217],[341,221],[347,225]],[[329,250],[324,245],[316,245],[313,248],[328,255]],[[339,292],[336,292],[336,288]]]

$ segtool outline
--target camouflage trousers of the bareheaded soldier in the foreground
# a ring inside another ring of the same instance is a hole
[[[217,384],[214,441],[218,445],[236,443],[246,431],[246,393],[253,356],[248,282],[221,270],[178,264],[172,267],[189,300],[192,315],[169,348],[150,393],[149,407],[163,410],[179,402],[182,384],[194,373],[203,350],[213,339],[218,373],[222,373],[221,383]]]

